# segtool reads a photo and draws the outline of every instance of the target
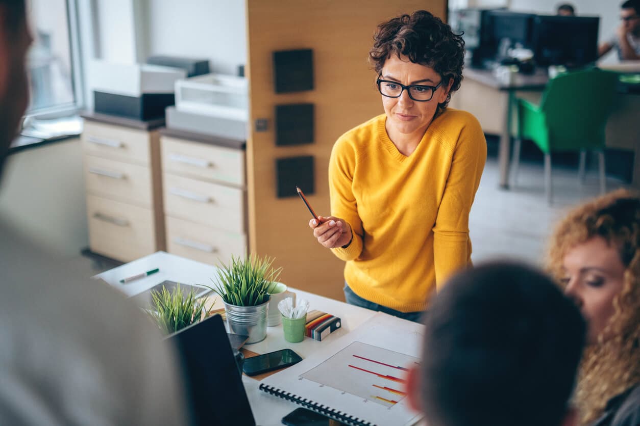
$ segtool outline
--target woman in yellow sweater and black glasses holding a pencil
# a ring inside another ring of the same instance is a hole
[[[470,264],[486,141],[476,118],[447,109],[463,58],[461,37],[428,11],[378,26],[369,60],[385,114],[335,142],[332,216],[309,222],[346,261],[348,303],[418,321],[438,285]]]

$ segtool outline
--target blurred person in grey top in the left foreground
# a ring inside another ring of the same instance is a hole
[[[25,8],[0,0],[0,169],[28,103]],[[0,218],[1,425],[182,425],[183,392],[141,310]]]

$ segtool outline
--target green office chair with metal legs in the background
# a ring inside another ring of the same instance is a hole
[[[564,73],[550,79],[540,106],[518,98],[518,136],[513,150],[516,183],[520,144],[531,139],[545,154],[545,194],[552,199],[551,153],[579,151],[580,182],[584,181],[586,151],[598,153],[600,192],[605,185],[605,126],[616,96],[618,74],[591,69]]]

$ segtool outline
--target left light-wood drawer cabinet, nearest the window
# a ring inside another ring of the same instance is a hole
[[[85,115],[82,135],[89,247],[129,262],[164,250],[158,121]]]

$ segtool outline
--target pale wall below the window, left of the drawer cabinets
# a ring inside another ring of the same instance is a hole
[[[0,215],[40,245],[65,257],[89,244],[79,139],[8,156]]]

